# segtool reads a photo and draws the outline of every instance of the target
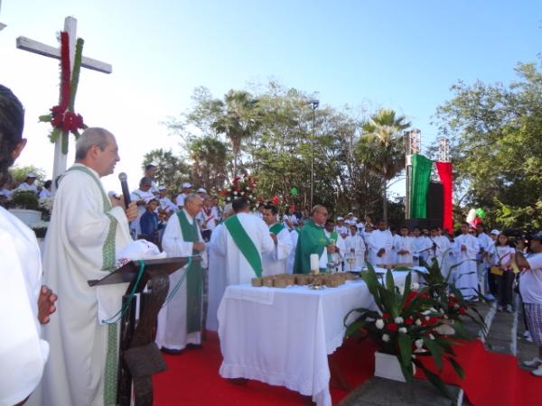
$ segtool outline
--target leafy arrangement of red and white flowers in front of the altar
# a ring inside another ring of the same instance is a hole
[[[438,329],[453,323],[453,320],[438,307],[437,300],[428,288],[418,291],[419,285],[412,283],[410,272],[401,290],[395,286],[391,271],[388,270],[385,281],[380,282],[372,265],[368,263],[367,266],[368,272],[362,273],[361,277],[367,283],[377,309],[351,310],[344,318],[346,336],[369,336],[380,352],[397,356],[406,381],[413,379],[416,365],[431,383],[450,396],[440,377],[429,371],[418,359],[418,355],[432,355],[439,369],[442,369],[444,361],[449,362],[463,379],[463,369],[455,360],[455,343],[439,333]],[[347,324],[350,315],[356,313],[358,317]],[[456,337],[466,337],[462,334],[463,330],[459,328]]]

